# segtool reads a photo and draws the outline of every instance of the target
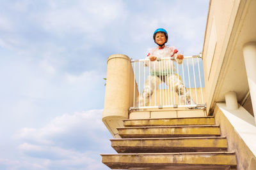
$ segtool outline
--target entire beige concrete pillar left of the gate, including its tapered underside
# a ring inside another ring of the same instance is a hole
[[[134,73],[131,60],[123,54],[108,57],[108,70],[102,121],[115,137],[116,127],[122,127],[123,119],[129,118],[129,107],[133,106]],[[138,96],[136,87],[135,96]]]

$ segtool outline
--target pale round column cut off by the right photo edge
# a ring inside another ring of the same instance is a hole
[[[244,64],[248,78],[253,113],[256,115],[256,41],[245,43],[243,46]],[[256,116],[254,116],[256,122]]]

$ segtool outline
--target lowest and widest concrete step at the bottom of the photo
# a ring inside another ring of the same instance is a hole
[[[236,169],[234,152],[102,154],[111,169]]]

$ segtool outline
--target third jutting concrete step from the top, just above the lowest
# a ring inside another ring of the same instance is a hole
[[[227,151],[225,137],[110,139],[117,153]]]

